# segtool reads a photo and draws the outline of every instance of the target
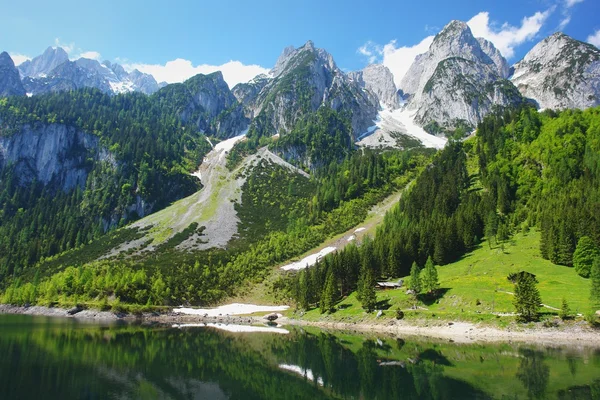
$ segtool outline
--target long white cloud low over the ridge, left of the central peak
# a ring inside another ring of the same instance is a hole
[[[230,88],[241,82],[248,82],[256,75],[266,74],[267,68],[260,65],[245,65],[239,61],[229,61],[222,65],[197,65],[194,66],[190,60],[178,58],[168,61],[166,64],[124,64],[127,71],[139,70],[154,76],[157,82],[183,82],[197,74],[209,74],[215,71],[223,73],[223,79]]]

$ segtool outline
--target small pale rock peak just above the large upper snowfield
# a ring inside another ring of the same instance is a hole
[[[360,87],[373,92],[382,107],[394,110],[400,106],[394,75],[386,66],[371,64],[362,71],[350,72],[348,76]]]

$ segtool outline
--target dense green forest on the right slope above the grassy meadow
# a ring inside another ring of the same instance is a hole
[[[302,308],[328,311],[354,290],[362,295],[365,281],[408,276],[428,259],[444,265],[484,236],[501,244],[532,227],[544,258],[573,266],[575,253],[588,277],[600,254],[599,173],[600,108],[489,116],[476,138],[450,141],[436,155],[374,241],[327,256],[288,288]]]

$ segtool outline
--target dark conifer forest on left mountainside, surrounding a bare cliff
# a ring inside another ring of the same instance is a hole
[[[2,171],[0,282],[138,218],[127,211],[138,198],[158,210],[200,188],[189,171],[210,146],[175,113],[165,112],[159,100],[92,89],[0,99],[0,135],[23,125],[64,124],[98,136],[116,160],[90,160],[85,186],[69,192],[52,183],[23,184],[11,166]]]

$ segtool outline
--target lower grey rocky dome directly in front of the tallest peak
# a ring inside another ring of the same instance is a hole
[[[440,62],[416,104],[415,122],[430,133],[473,128],[496,108],[519,104],[518,90],[486,65],[464,58]]]

